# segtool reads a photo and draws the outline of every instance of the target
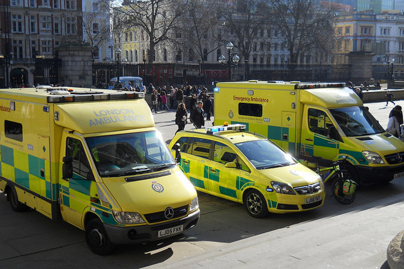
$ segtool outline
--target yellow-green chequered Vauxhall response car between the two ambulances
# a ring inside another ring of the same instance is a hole
[[[243,203],[252,217],[315,209],[320,176],[267,138],[225,125],[178,132],[168,148],[197,190]]]

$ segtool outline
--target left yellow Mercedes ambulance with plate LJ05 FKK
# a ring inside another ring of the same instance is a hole
[[[196,190],[143,92],[2,89],[0,119],[0,190],[13,210],[61,215],[100,255],[196,225]]]

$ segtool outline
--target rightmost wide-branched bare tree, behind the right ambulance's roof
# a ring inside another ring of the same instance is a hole
[[[269,0],[269,6],[270,25],[282,35],[290,69],[295,69],[299,57],[313,50],[331,52],[336,5],[319,5],[314,0]]]

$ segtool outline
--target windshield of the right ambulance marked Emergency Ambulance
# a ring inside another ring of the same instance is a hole
[[[379,122],[363,106],[351,106],[330,109],[345,136],[368,136],[383,133]]]

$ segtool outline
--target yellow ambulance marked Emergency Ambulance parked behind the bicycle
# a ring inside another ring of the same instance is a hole
[[[344,168],[362,183],[404,175],[404,143],[345,83],[220,82],[214,97],[215,125],[245,124],[297,158],[321,157],[324,166],[347,156]]]

